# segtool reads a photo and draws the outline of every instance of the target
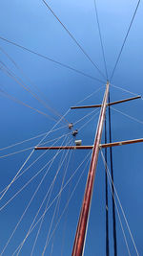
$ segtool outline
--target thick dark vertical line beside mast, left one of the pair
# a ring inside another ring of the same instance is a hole
[[[107,143],[107,113],[105,115],[105,144]],[[107,163],[107,148],[105,148],[105,161]],[[105,197],[106,197],[106,256],[110,255],[110,246],[109,246],[109,198],[108,198],[108,177],[107,177],[107,166],[105,166]]]

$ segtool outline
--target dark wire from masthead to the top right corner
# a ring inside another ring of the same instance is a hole
[[[114,67],[113,67],[113,70],[112,70],[112,76],[111,76],[110,81],[112,81],[112,77],[113,77],[113,75],[114,75],[114,71],[115,71],[116,66],[117,66],[117,64],[118,64],[118,61],[119,61],[119,59],[120,59],[120,57],[121,57],[123,48],[124,48],[125,43],[126,43],[126,40],[127,40],[127,37],[128,37],[128,35],[129,35],[129,33],[130,33],[130,30],[131,30],[131,28],[132,28],[133,20],[134,20],[134,17],[135,17],[136,12],[137,12],[137,10],[138,10],[138,7],[139,7],[140,2],[141,2],[141,0],[138,0],[137,5],[136,5],[136,8],[135,8],[135,11],[133,12],[133,18],[132,18],[131,23],[130,23],[130,25],[129,25],[127,34],[125,35],[125,38],[124,38],[124,40],[123,40],[123,44],[122,44],[121,49],[120,49],[120,51],[119,51],[118,57],[117,57],[117,59],[116,59],[116,61],[115,61],[115,64],[114,64]]]

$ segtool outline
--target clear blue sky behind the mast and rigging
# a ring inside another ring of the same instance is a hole
[[[57,14],[61,21],[66,25],[72,35],[77,39],[80,45],[104,71],[104,63],[102,58],[100,40],[98,35],[97,23],[95,19],[93,0],[90,1],[48,1],[51,9]],[[107,61],[109,76],[112,74],[112,68],[119,53],[123,39],[127,33],[129,24],[133,17],[133,12],[137,1],[97,1],[97,9],[99,21],[101,26],[101,33],[103,38],[105,57]],[[140,3],[139,9],[133,21],[132,30],[128,36],[127,42],[123,49],[123,53],[115,70],[112,84],[121,87],[124,90],[111,86],[111,100],[116,101],[134,94],[143,95],[142,89],[142,59],[143,59],[143,34],[142,34],[142,12],[143,4]],[[86,58],[77,45],[72,41],[72,38],[64,31],[62,26],[57,22],[55,17],[49,12],[42,1],[28,1],[28,0],[13,0],[0,2],[0,23],[1,32],[0,36],[10,39],[20,45],[23,45],[32,51],[38,52],[49,58],[53,58],[59,62],[70,65],[72,68],[80,70],[94,78],[103,80],[98,71],[94,68],[88,58]],[[10,58],[12,58],[16,65],[20,68],[17,69]],[[32,55],[22,49],[19,49],[9,43],[0,39],[0,61],[5,63],[17,78],[31,88],[32,93],[36,93],[39,98],[46,101],[47,105],[54,108],[60,114],[66,113],[71,105],[77,104],[88,95],[92,94],[95,90],[100,89],[97,93],[93,94],[82,104],[100,104],[104,94],[104,85],[99,81],[92,80],[88,77],[77,74],[70,69],[61,67],[47,59]],[[51,119],[45,115],[41,115],[24,105],[19,105],[11,101],[4,94],[0,94],[1,105],[1,149],[9,145],[29,139],[38,134],[49,131],[58,120],[57,115],[53,114],[50,109],[41,105],[35,98],[32,97],[30,92],[26,91],[19,83],[8,76],[5,68],[0,70],[0,89],[9,93],[13,97],[22,101],[27,105],[47,113]],[[129,92],[127,92],[129,91]],[[143,101],[136,100],[124,105],[115,105],[112,109],[112,141],[126,140],[142,137],[143,132],[143,117],[142,117]],[[136,122],[130,117],[127,117],[121,112],[134,117]],[[92,110],[72,110],[67,115],[67,120],[73,124],[87,114],[92,113]],[[96,113],[96,112],[95,112]],[[93,114],[77,123],[74,128],[82,128],[85,123],[93,117]],[[93,117],[92,121],[82,128],[77,135],[78,139],[82,139],[83,145],[91,145],[93,143],[94,132],[97,125],[97,115]],[[58,129],[48,135],[47,140],[51,140],[69,133],[69,129],[65,127],[66,123],[61,122],[57,125]],[[26,148],[34,147],[42,137],[26,142],[25,144],[18,145],[9,150],[0,151],[1,156],[9,154],[10,152],[20,151]],[[65,138],[65,136],[64,136]],[[45,140],[46,141],[46,140]],[[104,136],[102,138],[104,142]],[[53,142],[51,142],[53,143]],[[50,145],[51,145],[50,143]],[[63,137],[56,142],[56,145],[72,144],[74,139],[72,134],[68,139],[63,141]],[[49,143],[48,143],[49,145]],[[143,174],[142,174],[142,144],[135,144],[124,147],[116,147],[112,149],[113,152],[113,170],[114,170],[114,184],[118,192],[119,198],[122,202],[123,209],[125,210],[127,219],[129,221],[133,238],[138,249],[139,255],[143,254],[142,244],[142,215],[143,215]],[[8,157],[1,158],[1,191],[8,186],[10,180],[16,175],[20,167],[23,165],[31,150],[16,153]],[[26,182],[28,182],[33,175],[36,175],[46,163],[51,160],[56,151],[47,151],[46,154],[33,165],[29,171],[17,179],[6,193],[5,197],[1,199],[0,207],[17,192]],[[72,153],[72,155],[71,155]],[[62,169],[57,176],[54,184],[54,189],[51,193],[50,202],[60,190],[61,180],[64,176],[66,166],[68,167],[65,183],[68,181],[74,170],[79,166],[88,152],[73,151],[68,152],[67,160],[62,166]],[[26,164],[25,168],[41,155],[42,152],[34,152],[31,159]],[[52,179],[58,170],[62,157],[66,157],[66,151],[57,156],[53,165],[51,166],[50,173],[44,179],[39,191],[31,202],[25,217],[20,222],[16,232],[10,240],[3,255],[12,255],[14,250],[25,238],[31,222],[42,203],[48,189],[51,187]],[[68,160],[69,159],[69,160]],[[88,158],[87,158],[88,159]],[[67,162],[66,162],[67,161]],[[68,165],[68,161],[69,165]],[[86,160],[87,161],[87,160]],[[60,200],[59,212],[55,214],[55,219],[52,223],[51,232],[54,229],[56,222],[62,214],[68,198],[72,194],[72,190],[76,186],[76,182],[81,175],[86,164],[81,166],[79,172],[73,176],[72,181],[62,193]],[[24,213],[29,201],[31,200],[34,191],[36,190],[40,180],[46,173],[37,175],[36,178],[24,189],[18,196],[16,196],[10,203],[1,210],[1,235],[0,235],[0,251],[7,244],[10,235]],[[83,198],[84,186],[86,184],[88,168],[84,172],[73,196],[70,201],[68,210],[63,215],[54,236],[51,237],[49,246],[46,249],[45,255],[71,255],[72,244],[75,233],[75,228],[78,220],[78,214]],[[110,188],[109,188],[110,191]],[[110,203],[110,251],[112,250],[112,198],[109,195]],[[43,225],[35,245],[33,255],[42,255],[44,245],[46,243],[51,220],[54,213],[56,201],[51,206],[50,211],[47,213]],[[38,218],[44,212],[44,207],[41,209]],[[121,213],[121,211],[120,211]],[[37,219],[38,219],[37,218]],[[127,230],[125,221],[123,227],[131,250],[131,255],[136,255],[133,248],[133,243]],[[120,223],[116,216],[117,221],[117,248],[118,255],[128,255],[127,247],[124,242],[123,234],[121,231]],[[31,255],[32,246],[38,231],[39,225],[31,232],[31,236],[27,239],[26,243],[20,251],[20,255]],[[52,250],[53,248],[53,250]],[[52,252],[52,254],[51,254]],[[97,166],[97,173],[94,184],[94,191],[92,197],[91,218],[89,222],[89,229],[87,235],[87,244],[85,247],[85,255],[105,255],[105,173],[104,164],[99,155]]]

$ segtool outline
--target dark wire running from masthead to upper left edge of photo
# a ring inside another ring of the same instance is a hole
[[[23,45],[20,45],[20,44],[14,42],[14,41],[10,41],[10,40],[7,39],[7,38],[4,38],[4,37],[0,36],[0,39],[3,40],[3,41],[5,41],[5,42],[7,42],[7,43],[10,43],[10,44],[12,44],[12,45],[18,47],[18,48],[21,48],[21,49],[23,49],[24,51],[27,51],[27,52],[29,52],[29,53],[31,53],[31,54],[33,54],[33,55],[36,55],[36,56],[38,56],[38,57],[40,57],[40,58],[48,59],[48,60],[50,60],[51,62],[53,62],[53,63],[55,63],[55,64],[58,64],[58,65],[60,65],[60,66],[62,66],[62,67],[65,67],[65,68],[68,68],[68,69],[70,69],[70,70],[72,70],[72,71],[74,71],[74,72],[76,72],[76,73],[78,73],[78,74],[80,74],[80,75],[82,75],[82,76],[85,76],[85,77],[87,77],[87,78],[90,78],[90,79],[92,79],[92,80],[94,80],[94,81],[99,81],[99,82],[102,82],[102,83],[104,82],[104,81],[101,81],[101,80],[99,80],[99,79],[96,79],[96,78],[94,78],[94,77],[92,77],[92,76],[90,76],[90,75],[88,75],[88,74],[86,74],[86,73],[84,73],[84,72],[82,72],[82,71],[80,71],[80,70],[77,70],[77,69],[75,69],[75,68],[73,68],[73,67],[71,67],[71,66],[69,66],[69,65],[67,65],[67,64],[64,64],[64,63],[59,62],[59,61],[57,61],[57,60],[55,60],[55,59],[49,58],[49,57],[47,57],[47,56],[45,56],[45,55],[39,54],[39,53],[37,53],[37,52],[35,52],[35,51],[31,50],[31,49],[28,49],[27,47],[25,47],[25,46],[23,46]]]

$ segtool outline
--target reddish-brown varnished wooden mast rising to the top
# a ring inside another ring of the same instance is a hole
[[[100,145],[102,130],[104,126],[106,106],[107,106],[108,96],[109,96],[109,87],[110,87],[110,83],[107,81],[104,98],[101,105],[98,125],[96,128],[96,133],[94,138],[94,144],[92,149],[92,160],[91,160],[90,170],[87,178],[87,185],[85,189],[85,194],[84,194],[79,221],[76,229],[74,244],[72,248],[72,256],[82,256],[84,253],[86,231],[88,228],[88,220],[90,216],[90,208],[91,208],[91,202],[92,202],[94,176],[96,172],[98,153],[100,149],[99,145]]]

